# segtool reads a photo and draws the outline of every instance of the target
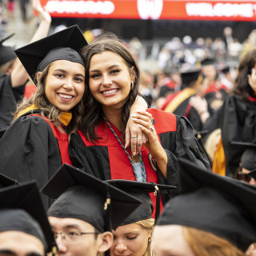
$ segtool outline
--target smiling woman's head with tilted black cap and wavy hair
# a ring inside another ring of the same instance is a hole
[[[70,26],[15,50],[37,86],[34,95],[18,106],[15,118],[30,106],[42,110],[57,126],[63,112],[72,112],[70,129],[78,126],[83,113],[86,72],[79,52],[86,45],[78,26]]]

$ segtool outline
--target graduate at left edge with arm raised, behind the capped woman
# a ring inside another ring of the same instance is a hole
[[[50,14],[42,9],[39,0],[32,1],[33,9],[38,13],[40,24],[30,42],[35,42],[47,36],[51,18]],[[7,38],[3,39],[4,42]],[[10,46],[0,46],[0,139],[6,128],[13,120],[16,104],[25,93],[29,75],[22,63],[16,58]]]

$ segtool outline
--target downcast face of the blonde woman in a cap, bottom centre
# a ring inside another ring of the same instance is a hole
[[[110,248],[111,256],[142,256],[145,254],[150,230],[146,230],[141,225],[131,223],[124,226],[118,226],[112,230],[114,242]]]

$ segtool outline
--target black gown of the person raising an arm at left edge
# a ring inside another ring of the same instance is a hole
[[[0,74],[0,138],[10,122],[13,120],[13,112],[17,102],[25,92],[25,84],[12,87],[10,74]]]

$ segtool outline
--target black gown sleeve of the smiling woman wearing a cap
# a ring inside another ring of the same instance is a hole
[[[0,141],[0,170],[17,182],[36,180],[39,189],[62,166],[58,141],[38,116],[18,118]],[[52,200],[43,195],[46,209]]]

